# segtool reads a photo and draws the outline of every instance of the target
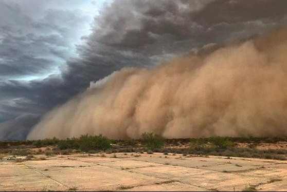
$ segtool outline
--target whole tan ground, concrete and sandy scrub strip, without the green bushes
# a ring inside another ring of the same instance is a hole
[[[140,141],[113,142],[98,152],[3,142],[0,191],[285,191],[285,140],[234,141],[216,149],[217,156],[190,152],[190,140],[166,140],[160,152]],[[260,159],[249,158],[253,153]]]

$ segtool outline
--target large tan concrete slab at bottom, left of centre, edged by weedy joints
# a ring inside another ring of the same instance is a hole
[[[100,165],[78,168],[52,167],[45,171],[45,175],[71,188],[86,191],[117,190],[121,186],[132,187],[154,184],[155,180],[166,181]]]

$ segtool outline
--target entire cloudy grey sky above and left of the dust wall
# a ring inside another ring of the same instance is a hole
[[[285,0],[0,0],[0,140],[123,67],[287,25]]]

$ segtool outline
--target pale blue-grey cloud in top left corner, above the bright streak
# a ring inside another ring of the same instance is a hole
[[[86,17],[72,11],[47,10],[31,18],[15,3],[0,2],[0,75],[41,75],[68,59],[70,39]],[[71,51],[70,51],[71,52]]]

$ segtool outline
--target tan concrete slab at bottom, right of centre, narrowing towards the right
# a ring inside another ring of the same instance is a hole
[[[131,170],[138,174],[154,176],[161,179],[174,179],[194,186],[200,186],[205,189],[216,190],[238,190],[245,187],[246,184],[257,185],[261,182],[267,182],[266,178],[248,177],[224,172],[210,171],[199,168],[187,168],[181,166],[159,166],[147,167]]]

